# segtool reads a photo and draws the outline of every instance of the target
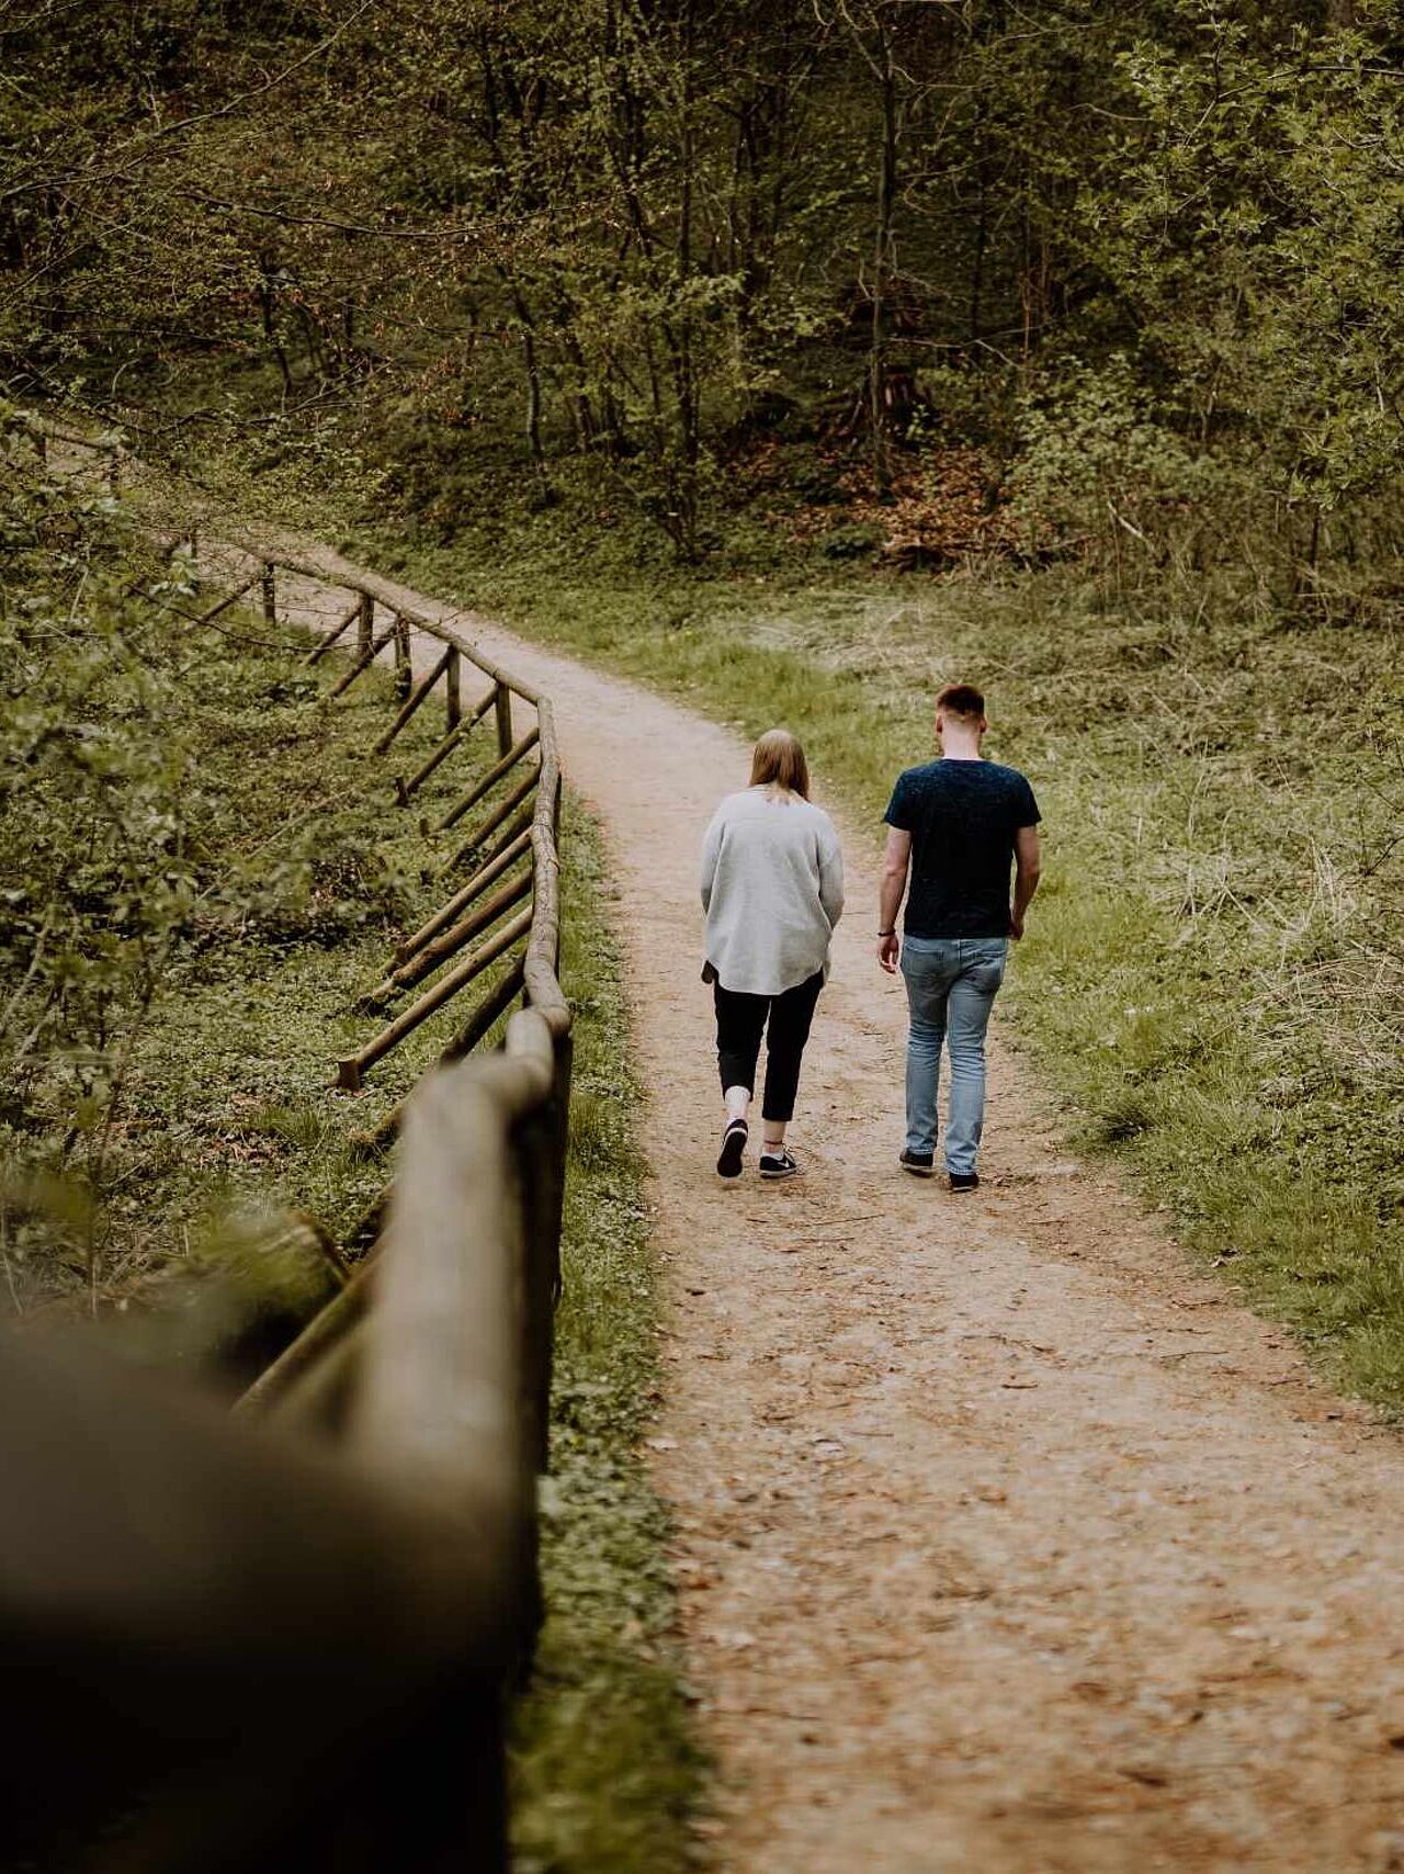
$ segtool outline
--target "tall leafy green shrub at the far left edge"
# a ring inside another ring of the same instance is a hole
[[[193,744],[144,630],[152,607],[129,592],[124,534],[111,498],[73,497],[37,472],[24,425],[7,422],[0,1081],[21,1130],[36,1102],[66,1113],[56,1158],[28,1175],[79,1175],[90,1265],[92,1197],[131,1046],[199,896]]]

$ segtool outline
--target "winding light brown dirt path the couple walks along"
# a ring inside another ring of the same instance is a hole
[[[1404,1868],[1398,1439],[1061,1156],[999,1042],[980,1192],[896,1169],[872,828],[845,828],[804,1175],[722,1186],[694,870],[746,750],[457,622],[555,697],[617,866],[667,1276],[650,1443],[720,1865]]]

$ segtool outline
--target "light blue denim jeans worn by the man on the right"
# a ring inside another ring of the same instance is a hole
[[[947,1171],[975,1169],[984,1126],[984,1031],[1005,980],[1005,937],[907,937],[907,1151],[935,1153],[941,1044],[950,1053]]]

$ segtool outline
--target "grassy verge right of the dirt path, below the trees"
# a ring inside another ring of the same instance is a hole
[[[405,553],[399,555],[401,560]],[[1005,1008],[1183,1241],[1335,1379],[1404,1407],[1404,678],[1389,605],[1301,617],[1247,581],[1108,596],[1076,572],[892,579],[746,543],[630,572],[553,517],[412,549],[429,588],[755,735],[879,836],[973,677],[1048,875]],[[739,780],[739,778],[737,778]],[[718,789],[725,778],[718,776]]]

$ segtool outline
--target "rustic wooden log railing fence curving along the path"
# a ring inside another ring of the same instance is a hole
[[[4,1347],[0,1670],[26,1722],[0,1808],[15,1840],[77,1831],[64,1867],[122,1874],[504,1868],[504,1711],[542,1604],[570,1106],[551,705],[382,581],[234,545],[257,555],[238,596],[257,588],[266,618],[287,577],[341,588],[307,658],[352,645],[328,695],[394,662],[381,757],[442,695],[442,736],[396,798],[480,723],[497,735],[442,823],[478,813],[442,868],[444,903],[366,1003],[435,980],[339,1083],[500,967],[379,1128],[399,1130],[399,1164],[345,1244],[367,1252],[232,1417],[94,1349]],[[418,682],[412,633],[442,647]],[[126,1820],[94,1848],[103,1814]]]

